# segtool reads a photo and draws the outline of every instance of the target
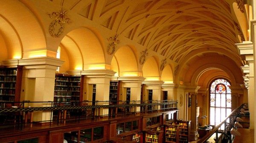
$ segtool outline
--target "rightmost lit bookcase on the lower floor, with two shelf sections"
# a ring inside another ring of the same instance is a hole
[[[189,143],[191,121],[175,121],[165,125],[166,143]]]

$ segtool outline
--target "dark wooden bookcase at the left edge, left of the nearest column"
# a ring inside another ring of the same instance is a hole
[[[0,101],[20,102],[23,66],[8,68],[0,66]],[[18,106],[14,105],[14,106]],[[0,104],[0,107],[4,106]]]

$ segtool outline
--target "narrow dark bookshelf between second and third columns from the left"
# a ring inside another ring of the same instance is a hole
[[[110,81],[109,101],[112,101],[111,104],[117,104],[118,92],[119,92],[118,88],[119,88],[118,81]]]

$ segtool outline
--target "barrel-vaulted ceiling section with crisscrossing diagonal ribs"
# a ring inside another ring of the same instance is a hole
[[[64,1],[67,3],[72,10],[79,8],[78,14],[87,19],[177,63],[192,50],[209,47],[239,57],[235,46],[240,42],[239,32],[230,0]]]

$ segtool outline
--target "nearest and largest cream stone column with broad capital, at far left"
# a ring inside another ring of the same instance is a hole
[[[64,62],[52,57],[15,59],[4,61],[5,65],[22,65],[23,80],[20,100],[53,101],[55,73]],[[51,103],[29,104],[31,107],[50,107]],[[35,112],[33,121],[49,122],[51,112]]]

